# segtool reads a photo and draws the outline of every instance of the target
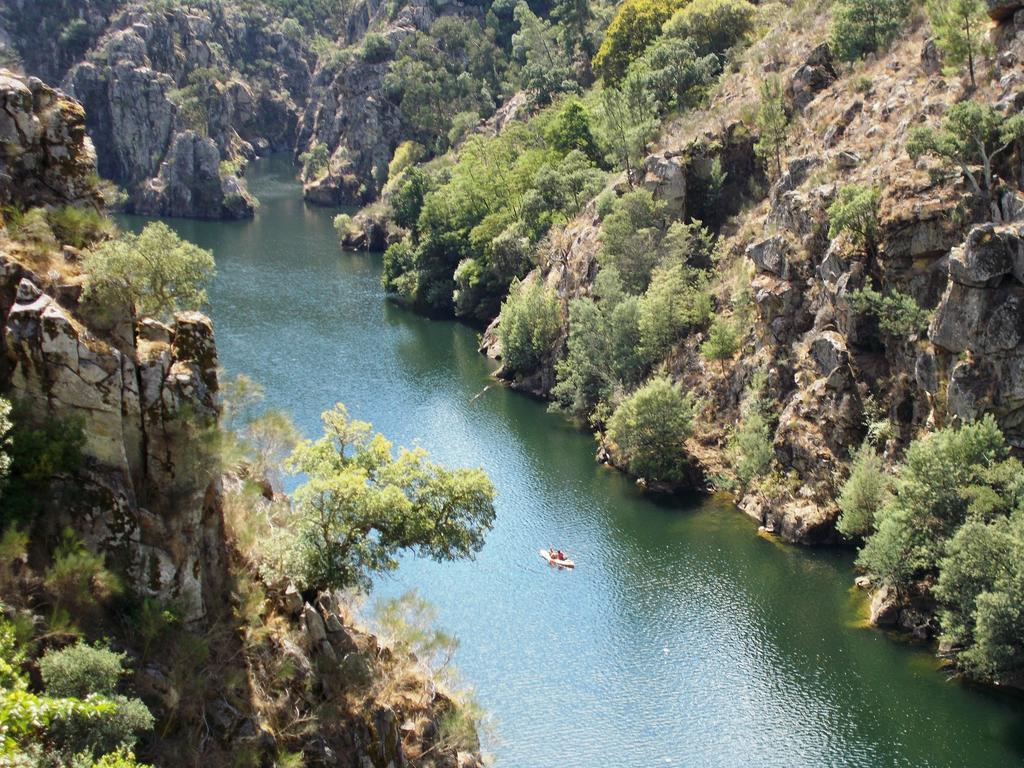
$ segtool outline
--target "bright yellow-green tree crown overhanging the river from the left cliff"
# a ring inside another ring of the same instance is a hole
[[[303,588],[369,588],[412,550],[435,560],[471,557],[494,517],[495,488],[478,469],[450,470],[422,449],[391,451],[344,406],[323,414],[324,436],[300,443],[288,468],[306,480],[267,542],[268,577]]]

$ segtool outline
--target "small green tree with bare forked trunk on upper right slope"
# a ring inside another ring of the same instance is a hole
[[[999,155],[1024,139],[1024,113],[1005,117],[988,104],[967,99],[950,106],[935,129],[916,126],[906,151],[914,160],[925,155],[958,168],[971,190],[989,206],[993,221],[1004,221],[994,163]],[[981,166],[981,175],[973,166]]]

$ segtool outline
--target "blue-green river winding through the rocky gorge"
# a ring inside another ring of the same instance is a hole
[[[590,435],[496,385],[474,331],[385,300],[379,255],[339,251],[288,158],[249,179],[254,220],[169,222],[215,254],[226,371],[309,436],[342,401],[498,488],[476,560],[407,558],[375,597],[416,588],[437,606],[499,768],[1024,762],[1024,705],[865,629],[848,553],[760,538],[723,499],[644,498]],[[578,568],[544,563],[549,545]]]

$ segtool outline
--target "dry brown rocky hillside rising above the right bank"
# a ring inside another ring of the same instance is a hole
[[[718,312],[745,323],[741,350],[727,364],[702,357],[702,334],[662,364],[705,403],[687,451],[707,477],[730,475],[730,425],[754,373],[765,372],[782,481],[748,488],[740,506],[790,541],[835,540],[835,499],[871,422],[885,427],[889,458],[926,428],[989,412],[1024,449],[1021,225],[986,223],[987,208],[958,174],[936,173],[906,151],[914,126],[937,125],[965,97],[1008,116],[1021,109],[1024,13],[1020,3],[990,5],[999,20],[994,77],[976,90],[941,74],[923,24],[857,77],[841,76],[822,42],[826,18],[804,19],[799,30],[782,24],[723,78],[707,109],[665,128],[644,163],[640,183],[670,214],[719,232],[731,266],[716,278]],[[750,120],[765,73],[779,74],[791,115],[782,173],[770,183],[770,169],[753,152]],[[703,189],[715,159],[726,188],[709,206]],[[1012,218],[1024,179],[1019,159],[1005,165],[1001,208]],[[871,252],[847,236],[829,237],[829,205],[858,183],[881,189]],[[625,178],[615,188],[629,188]],[[545,281],[563,301],[590,295],[599,229],[591,206],[552,237],[528,280]],[[909,297],[930,325],[887,329],[855,300],[862,288]],[[547,396],[563,344],[513,386]],[[481,351],[500,357],[495,325]]]

